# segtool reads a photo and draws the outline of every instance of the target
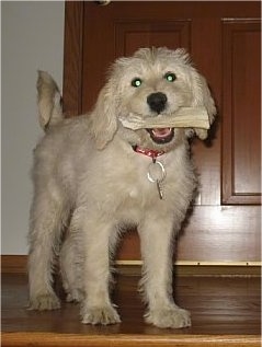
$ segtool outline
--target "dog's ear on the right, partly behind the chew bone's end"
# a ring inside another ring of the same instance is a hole
[[[193,107],[204,106],[208,113],[209,123],[212,125],[216,115],[215,102],[212,97],[212,94],[205,78],[201,76],[195,69],[192,70],[192,85],[193,85],[192,106]],[[195,128],[194,131],[201,140],[205,140],[207,138],[207,130]]]

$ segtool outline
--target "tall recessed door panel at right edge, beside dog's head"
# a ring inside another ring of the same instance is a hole
[[[260,22],[224,24],[223,203],[259,204],[261,198]]]

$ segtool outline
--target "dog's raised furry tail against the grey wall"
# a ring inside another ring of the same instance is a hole
[[[45,71],[38,71],[37,79],[37,104],[41,127],[46,131],[50,126],[64,119],[60,91]]]

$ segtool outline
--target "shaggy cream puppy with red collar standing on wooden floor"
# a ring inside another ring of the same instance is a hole
[[[135,225],[145,321],[164,328],[190,326],[190,313],[172,297],[173,241],[197,186],[189,138],[204,139],[206,130],[132,130],[119,119],[204,106],[213,123],[216,107],[206,80],[184,49],[161,47],[117,59],[88,114],[64,116],[48,73],[39,72],[37,89],[46,134],[34,150],[32,172],[30,309],[60,306],[53,289],[59,254],[67,300],[81,302],[82,323],[119,323],[110,297],[111,265],[119,234]]]

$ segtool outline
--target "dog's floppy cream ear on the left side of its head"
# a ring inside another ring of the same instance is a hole
[[[99,150],[102,150],[113,139],[117,129],[116,116],[115,89],[112,82],[109,81],[101,90],[94,109],[90,115],[90,131]]]

